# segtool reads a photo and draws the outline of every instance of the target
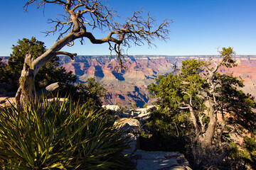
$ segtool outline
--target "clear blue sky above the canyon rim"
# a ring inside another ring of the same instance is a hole
[[[23,11],[24,0],[1,0],[0,56],[11,53],[11,45],[18,39],[36,37],[53,45],[56,35],[45,37],[49,30],[48,18],[63,13],[58,6],[46,6],[45,11],[29,6]],[[124,21],[134,11],[148,11],[159,23],[164,18],[174,21],[169,40],[129,49],[129,55],[216,55],[218,47],[233,47],[238,55],[256,55],[256,0],[109,0],[119,20]],[[102,33],[104,35],[104,33]],[[97,38],[101,38],[96,34]],[[107,35],[107,33],[106,33]],[[110,55],[108,45],[84,45],[77,42],[63,50],[78,55]]]

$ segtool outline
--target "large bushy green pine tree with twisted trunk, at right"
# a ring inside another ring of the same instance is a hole
[[[236,143],[237,149],[233,147],[235,141],[230,138],[230,133],[253,134],[256,128],[255,98],[240,90],[243,82],[239,77],[218,72],[220,67],[236,66],[230,57],[233,53],[231,47],[223,48],[219,66],[198,60],[183,61],[180,69],[174,67],[175,73],[160,75],[156,78],[156,83],[148,87],[153,97],[158,98],[158,109],[151,113],[146,123],[146,135],[150,134],[153,139],[156,138],[158,143],[155,144],[162,149],[187,152],[184,149],[186,145],[190,148],[187,154],[193,154],[191,165],[194,164],[196,168],[237,169],[245,164],[255,166],[252,164],[255,152],[251,149],[255,149],[253,135],[252,138],[245,137],[244,146]],[[214,76],[210,77],[210,73]],[[212,80],[209,80],[210,78]],[[214,83],[214,88],[210,81]],[[216,118],[218,121],[212,146],[203,149],[203,137],[210,121],[210,109],[214,116],[217,117],[218,114],[219,118]],[[176,145],[170,147],[170,144]],[[247,154],[240,152],[241,149],[247,151]],[[207,160],[206,156],[212,158]]]

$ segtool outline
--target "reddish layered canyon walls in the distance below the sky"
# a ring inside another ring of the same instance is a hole
[[[107,89],[104,104],[119,106],[134,106],[142,108],[145,104],[151,105],[156,101],[150,98],[146,89],[155,82],[159,74],[174,72],[174,63],[181,66],[182,60],[213,60],[218,62],[219,56],[164,56],[164,55],[137,55],[124,57],[124,68],[119,67],[119,60],[112,56],[77,56],[60,57],[60,66],[72,71],[78,76],[79,82],[86,82],[87,78],[94,77]],[[236,55],[238,67],[221,68],[221,73],[233,73],[235,77],[244,80],[242,88],[245,93],[256,96],[256,55]]]

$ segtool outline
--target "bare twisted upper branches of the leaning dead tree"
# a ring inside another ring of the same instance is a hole
[[[131,43],[134,45],[146,43],[149,46],[155,46],[153,43],[155,38],[166,40],[169,35],[169,24],[172,23],[171,20],[166,19],[156,27],[154,25],[156,20],[149,13],[148,17],[144,19],[142,18],[142,11],[136,11],[124,24],[119,24],[114,21],[114,17],[117,16],[115,11],[99,0],[30,0],[24,6],[25,10],[30,4],[36,4],[38,8],[44,8],[46,4],[58,4],[65,8],[66,14],[62,15],[62,18],[49,20],[49,23],[54,24],[54,26],[52,27],[53,30],[46,31],[46,35],[59,32],[58,40],[60,40],[66,34],[74,33],[73,40],[80,38],[82,42],[82,38],[88,38],[93,44],[114,43],[117,45],[110,45],[110,49],[118,59],[122,59],[122,47],[129,48]],[[92,28],[92,30],[107,28],[109,34],[105,38],[97,39],[87,31],[87,27]],[[72,45],[73,43],[70,44],[70,46]]]

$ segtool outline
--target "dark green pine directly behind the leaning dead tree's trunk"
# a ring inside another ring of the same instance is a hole
[[[37,57],[46,52],[46,46],[44,42],[36,40],[32,37],[31,40],[23,38],[18,40],[17,45],[13,45],[13,52],[9,58],[6,66],[9,76],[11,77],[12,91],[18,89],[18,79],[21,76],[21,70],[23,69],[24,58],[26,52],[31,50],[31,55],[35,60]],[[76,81],[77,77],[72,72],[66,72],[64,67],[59,67],[59,57],[53,57],[50,62],[46,63],[36,75],[35,86],[36,90],[39,91],[49,84],[60,82],[63,84],[72,84]]]

